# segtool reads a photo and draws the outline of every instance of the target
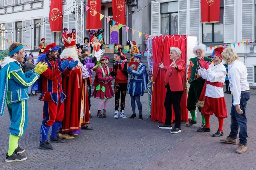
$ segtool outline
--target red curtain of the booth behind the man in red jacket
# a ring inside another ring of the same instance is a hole
[[[170,47],[178,47],[181,49],[181,59],[186,60],[186,36],[185,35],[163,35],[156,36],[153,38],[152,42],[152,51],[153,51],[153,93],[152,93],[152,107],[151,107],[151,120],[158,121],[159,123],[165,123],[166,111],[165,111],[165,73],[163,69],[159,69],[159,63],[163,62],[163,65],[169,66],[172,63],[170,60]],[[186,75],[184,77],[186,79]],[[175,81],[175,80],[174,80]],[[184,91],[181,99],[181,120],[188,121],[188,111],[187,111],[187,94]],[[174,111],[172,109],[172,121],[175,119]]]

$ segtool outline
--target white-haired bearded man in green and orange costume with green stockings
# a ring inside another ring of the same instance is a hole
[[[201,76],[198,74],[198,70],[201,68],[200,60],[203,59],[203,61],[206,62],[212,62],[211,58],[205,57],[205,45],[204,44],[198,44],[193,48],[193,53],[196,55],[194,58],[189,59],[189,67],[188,67],[188,83],[190,84],[189,90],[188,90],[188,98],[187,98],[187,109],[191,114],[191,121],[186,124],[186,126],[192,126],[193,124],[196,124],[196,104],[199,100],[199,97],[201,95],[204,82],[205,80],[201,78]],[[198,107],[199,112],[201,112],[201,108]],[[205,126],[205,119],[204,115],[202,116],[202,125],[201,129]]]

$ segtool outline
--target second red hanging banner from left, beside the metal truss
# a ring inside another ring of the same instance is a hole
[[[102,29],[100,21],[101,2],[100,0],[88,0],[89,10],[87,11],[86,30]]]

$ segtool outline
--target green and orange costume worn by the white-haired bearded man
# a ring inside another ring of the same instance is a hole
[[[204,61],[212,62],[211,58],[203,57]],[[188,68],[188,82],[190,83],[190,87],[188,90],[188,98],[187,98],[187,109],[190,112],[192,116],[192,120],[196,121],[196,103],[199,100],[199,97],[201,95],[203,85],[205,83],[205,80],[202,79],[198,75],[198,70],[200,69],[200,63],[197,57],[190,58],[190,64]],[[199,112],[201,112],[201,108],[198,108]],[[202,116],[202,124],[205,124],[204,115]]]

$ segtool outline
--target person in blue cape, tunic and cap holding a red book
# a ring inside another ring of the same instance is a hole
[[[128,74],[131,74],[131,79],[127,88],[127,94],[131,96],[131,108],[132,108],[132,115],[129,119],[136,118],[136,105],[135,101],[137,102],[138,109],[139,109],[139,120],[142,120],[142,105],[140,102],[140,97],[143,96],[144,90],[147,89],[147,66],[141,62],[141,54],[133,54],[133,62],[138,62],[138,69],[133,70],[131,67],[128,67]]]

